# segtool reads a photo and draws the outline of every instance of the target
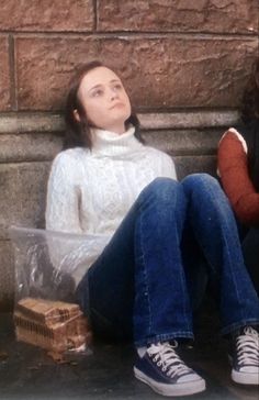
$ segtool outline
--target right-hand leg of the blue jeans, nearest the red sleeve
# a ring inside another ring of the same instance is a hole
[[[218,295],[223,333],[259,322],[259,300],[246,270],[236,221],[218,182],[205,174],[182,181],[188,218]]]

